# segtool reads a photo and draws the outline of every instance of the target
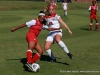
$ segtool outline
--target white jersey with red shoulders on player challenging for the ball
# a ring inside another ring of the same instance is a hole
[[[51,16],[46,15],[45,20],[47,21],[48,27],[49,28],[59,28],[60,27],[60,23],[58,21],[58,19],[60,18],[60,16],[58,14],[52,14]],[[52,30],[50,32],[54,32],[54,31],[61,31],[62,30]]]

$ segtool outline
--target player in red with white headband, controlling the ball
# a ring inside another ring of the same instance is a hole
[[[42,26],[44,24],[44,13],[39,13],[39,16],[37,19],[33,19],[29,22],[26,22],[16,28],[12,28],[11,31],[14,32],[17,29],[23,28],[23,27],[30,27],[29,32],[26,35],[26,40],[28,42],[28,50],[26,52],[27,55],[27,64],[25,64],[31,71],[32,70],[32,63],[35,63],[40,56],[43,53],[42,47],[40,43],[38,42],[37,36],[39,35]],[[33,56],[32,51],[35,49],[37,53]]]

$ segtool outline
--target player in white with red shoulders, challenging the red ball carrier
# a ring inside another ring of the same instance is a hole
[[[71,30],[67,26],[67,24],[61,19],[61,17],[54,12],[54,8],[52,6],[49,6],[49,14],[45,16],[45,20],[47,21],[48,27],[50,28],[59,28],[60,23],[65,27],[69,34],[72,35]],[[49,32],[47,39],[45,41],[44,50],[47,52],[47,54],[50,56],[52,62],[56,62],[56,58],[54,57],[50,47],[53,44],[54,41],[57,42],[57,44],[67,53],[70,59],[72,59],[73,55],[69,52],[68,48],[64,44],[64,42],[61,40],[62,38],[62,30],[52,30]]]

